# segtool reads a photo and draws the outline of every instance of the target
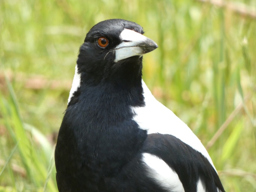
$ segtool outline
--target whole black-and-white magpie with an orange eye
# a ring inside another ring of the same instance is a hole
[[[201,141],[142,80],[157,44],[108,19],[86,34],[55,148],[60,192],[224,192]]]

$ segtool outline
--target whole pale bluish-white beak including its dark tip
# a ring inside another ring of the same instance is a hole
[[[114,49],[115,62],[136,55],[144,55],[158,47],[150,38],[133,30],[123,30],[120,34],[120,38],[123,42]]]

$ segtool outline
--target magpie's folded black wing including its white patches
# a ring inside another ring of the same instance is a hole
[[[152,133],[145,140],[142,159],[149,177],[176,191],[223,190],[219,176],[200,152],[169,134]]]

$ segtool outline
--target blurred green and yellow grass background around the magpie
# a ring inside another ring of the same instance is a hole
[[[157,42],[144,81],[206,146],[226,191],[256,191],[255,0],[1,0],[0,192],[57,191],[78,48],[111,18]]]

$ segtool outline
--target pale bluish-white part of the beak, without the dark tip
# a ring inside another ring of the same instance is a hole
[[[148,38],[133,30],[124,29],[120,34],[120,39],[124,42],[115,47],[115,62],[135,55],[142,55],[141,47],[137,45]]]

